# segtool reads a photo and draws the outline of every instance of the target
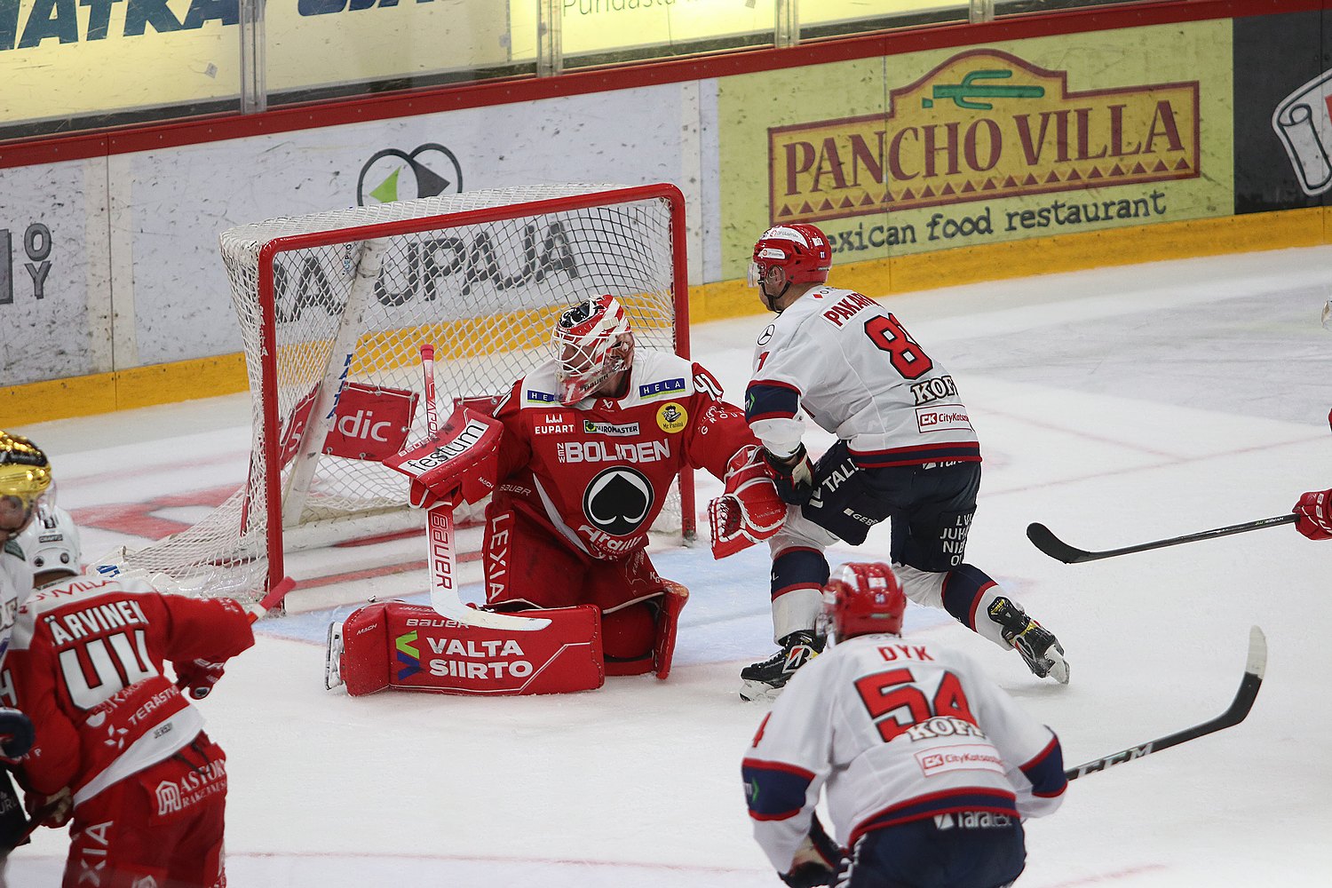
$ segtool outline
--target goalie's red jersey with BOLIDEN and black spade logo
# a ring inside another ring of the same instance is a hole
[[[557,391],[547,362],[496,411],[503,437],[492,509],[533,518],[595,559],[623,559],[647,545],[681,469],[723,478],[727,461],[758,443],[713,375],[673,354],[635,351],[621,398],[563,406]]]

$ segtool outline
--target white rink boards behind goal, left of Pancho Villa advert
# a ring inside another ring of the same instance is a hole
[[[412,157],[450,182],[444,193],[460,178],[466,190],[671,182],[701,282],[717,153],[713,138],[702,154],[715,104],[698,96],[690,81],[0,169],[0,386],[240,351],[218,233],[353,206],[377,154]],[[400,197],[416,197],[405,178]]]

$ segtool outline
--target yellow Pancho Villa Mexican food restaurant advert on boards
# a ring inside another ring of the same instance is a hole
[[[726,272],[741,273],[758,232],[790,221],[818,224],[839,261],[859,261],[1228,216],[1229,28],[1159,25],[726,79]],[[739,173],[758,158],[766,176]]]

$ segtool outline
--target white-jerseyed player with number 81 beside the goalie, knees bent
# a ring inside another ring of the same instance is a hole
[[[745,413],[791,509],[769,541],[782,651],[742,672],[742,695],[781,690],[822,650],[813,627],[829,576],[823,550],[838,539],[859,546],[887,519],[908,598],[1015,647],[1038,676],[1067,682],[1055,636],[963,562],[980,445],[956,382],[878,302],[829,286],[831,265],[827,238],[806,224],[765,232],[750,265],[750,285],[778,317],[758,338]],[[838,437],[817,466],[802,415]]]

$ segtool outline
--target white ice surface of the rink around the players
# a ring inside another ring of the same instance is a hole
[[[1247,722],[1078,780],[1055,816],[1028,821],[1020,885],[1332,884],[1332,542],[1280,526],[1062,564],[1024,535],[1039,521],[1114,549],[1280,515],[1332,485],[1329,285],[1332,248],[1312,248],[886,301],[954,374],[980,435],[967,560],[1058,634],[1072,682],[1035,679],[934,611],[912,606],[908,632],[980,658],[1068,764],[1223,711],[1251,624],[1271,650]],[[766,324],[693,330],[735,402]],[[238,486],[248,423],[237,395],[17,431],[51,454],[95,558],[141,545],[127,529],[145,517],[189,521],[202,510],[181,503]],[[718,489],[705,478],[701,503]],[[876,529],[830,560],[883,559],[887,545]],[[774,650],[766,553],[662,546],[654,560],[691,590],[671,678],[566,696],[325,691],[324,628],[349,610],[329,606],[425,576],[293,592],[293,614],[262,622],[201,703],[229,758],[229,884],[779,885],[739,780],[766,707],[739,700],[738,674]],[[64,832],[41,831],[9,884],[59,884],[64,849]]]

